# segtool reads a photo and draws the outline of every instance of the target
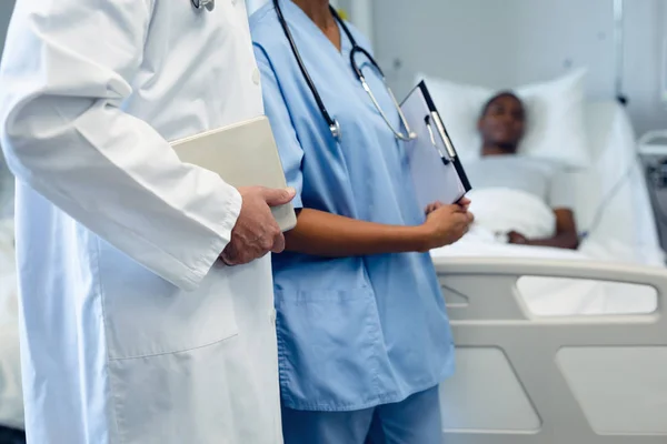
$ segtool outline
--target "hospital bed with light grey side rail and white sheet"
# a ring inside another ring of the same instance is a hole
[[[575,212],[609,258],[432,253],[457,347],[447,444],[667,442],[667,271],[635,137],[615,101],[586,114],[594,167]]]

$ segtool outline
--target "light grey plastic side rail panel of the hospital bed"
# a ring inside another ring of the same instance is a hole
[[[444,443],[667,443],[667,271],[507,258],[435,263],[458,361],[440,387]],[[534,316],[517,291],[527,275],[650,285],[658,309]]]

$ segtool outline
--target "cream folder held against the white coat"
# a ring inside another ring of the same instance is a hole
[[[287,188],[276,139],[266,115],[180,139],[171,142],[171,147],[181,162],[212,171],[235,188]],[[297,225],[291,203],[273,206],[271,213],[283,232]]]

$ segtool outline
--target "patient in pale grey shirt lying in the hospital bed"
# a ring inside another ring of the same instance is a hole
[[[575,191],[558,165],[517,154],[525,123],[524,104],[511,92],[495,95],[481,110],[481,159],[466,164],[476,233],[514,244],[576,249]]]

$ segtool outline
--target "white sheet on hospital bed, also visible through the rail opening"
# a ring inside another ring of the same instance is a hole
[[[595,162],[574,174],[577,189],[574,210],[579,229],[591,229],[600,202],[606,203],[599,223],[578,251],[482,242],[468,235],[454,245],[434,250],[434,260],[440,256],[593,259],[664,266],[648,190],[636,155],[635,134],[625,110],[616,101],[591,102],[586,119]],[[657,306],[656,291],[646,285],[525,276],[517,286],[536,315],[636,314],[650,313]]]

